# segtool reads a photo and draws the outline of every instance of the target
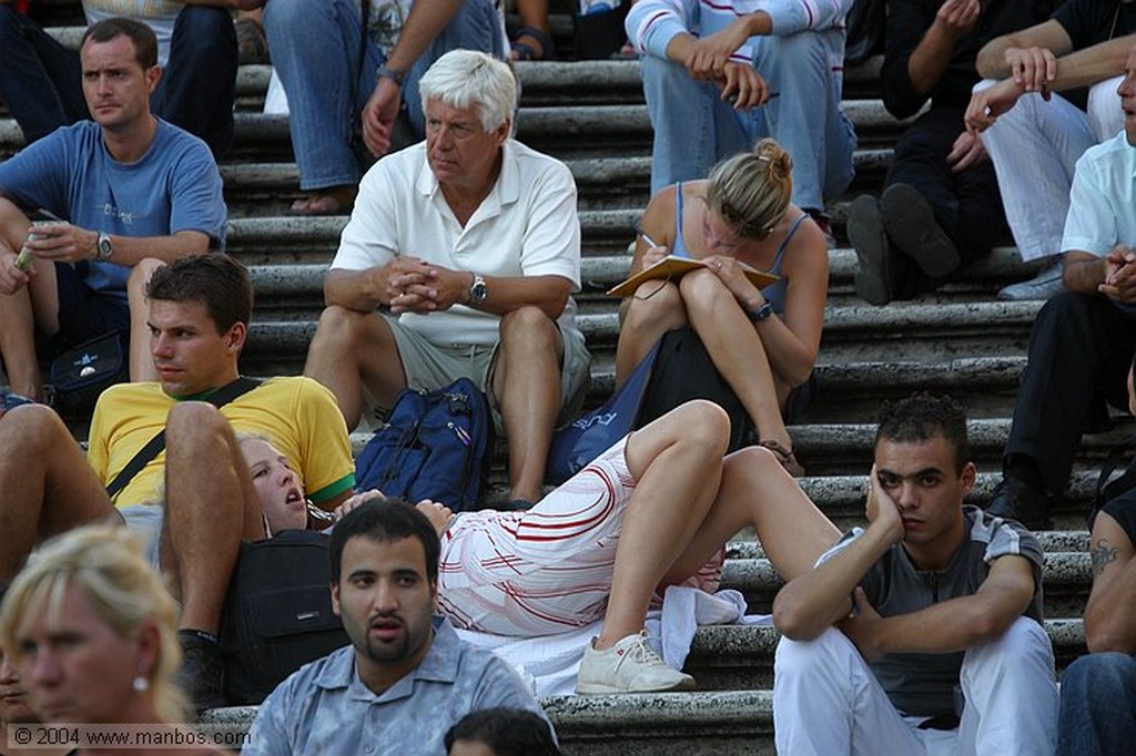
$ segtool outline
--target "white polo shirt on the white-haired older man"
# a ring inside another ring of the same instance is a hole
[[[559,160],[507,140],[501,174],[462,228],[421,142],[375,163],[359,184],[333,269],[366,270],[396,254],[483,276],[562,276],[579,291],[576,183]],[[560,322],[574,327],[568,300]],[[493,344],[500,318],[457,304],[400,322],[435,344]]]

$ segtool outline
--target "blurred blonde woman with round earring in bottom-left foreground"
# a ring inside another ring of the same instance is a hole
[[[173,679],[182,656],[176,616],[130,531],[84,527],[47,541],[12,581],[0,608],[0,641],[43,722],[130,724],[124,733],[160,741],[173,736],[168,725],[189,721]],[[77,753],[87,753],[82,740]],[[132,744],[123,753],[225,751]]]

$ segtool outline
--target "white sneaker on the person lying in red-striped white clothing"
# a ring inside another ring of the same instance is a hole
[[[642,632],[627,636],[602,652],[595,649],[593,638],[584,649],[576,681],[576,692],[580,695],[686,690],[693,687],[694,678],[667,666],[658,654],[648,648],[646,636]]]

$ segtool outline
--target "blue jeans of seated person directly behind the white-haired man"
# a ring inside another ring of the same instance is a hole
[[[369,40],[359,65],[361,19],[351,0],[270,0],[265,33],[273,65],[287,94],[292,149],[300,188],[314,191],[359,180],[353,135],[385,58]],[[449,50],[484,50],[504,57],[500,19],[488,0],[468,0],[407,72],[406,118],[417,138],[425,134],[418,79]]]

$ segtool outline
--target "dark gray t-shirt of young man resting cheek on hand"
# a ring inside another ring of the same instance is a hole
[[[1042,564],[1045,555],[1031,532],[1011,520],[984,513],[977,506],[963,506],[967,537],[942,572],[920,572],[911,563],[902,544],[884,554],[860,581],[868,602],[880,616],[910,614],[939,602],[970,596],[989,573],[1000,556],[1017,555],[1034,568],[1034,598],[1026,616],[1042,621]],[[860,537],[854,528],[826,552],[820,564]],[[885,654],[869,666],[892,705],[911,716],[957,714],[954,690],[959,684],[963,652],[949,654]]]

